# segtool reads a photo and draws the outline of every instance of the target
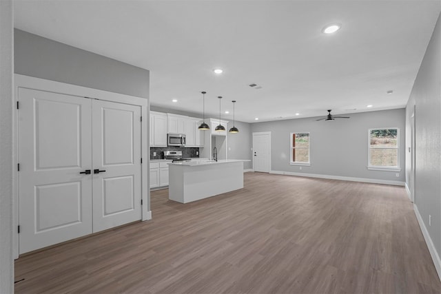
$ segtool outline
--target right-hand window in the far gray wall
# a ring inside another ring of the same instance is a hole
[[[369,169],[400,168],[399,129],[369,129]]]

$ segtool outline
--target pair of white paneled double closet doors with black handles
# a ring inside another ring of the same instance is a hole
[[[19,88],[19,253],[141,219],[141,107]]]

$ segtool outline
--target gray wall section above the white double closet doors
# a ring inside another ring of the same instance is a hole
[[[22,30],[14,30],[14,72],[149,98],[150,72]]]

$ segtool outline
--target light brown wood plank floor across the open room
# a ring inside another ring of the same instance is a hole
[[[259,173],[16,261],[17,293],[440,293],[403,187]]]

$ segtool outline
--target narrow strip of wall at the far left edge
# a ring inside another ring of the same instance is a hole
[[[12,259],[12,1],[0,1],[0,293],[14,292]]]

